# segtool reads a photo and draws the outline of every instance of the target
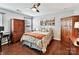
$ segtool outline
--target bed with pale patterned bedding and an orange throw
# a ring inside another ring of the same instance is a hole
[[[26,32],[21,37],[21,42],[24,45],[27,45],[31,48],[46,52],[46,48],[53,37],[53,30],[49,30],[49,32]]]

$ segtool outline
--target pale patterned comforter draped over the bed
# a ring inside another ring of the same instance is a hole
[[[32,32],[32,34],[33,33],[35,33],[35,32]],[[38,49],[38,50],[42,51],[43,53],[45,53],[47,45],[52,40],[51,39],[52,36],[53,36],[52,34],[53,34],[52,32],[48,32],[47,34],[45,34],[45,33],[43,34],[42,33],[43,36],[40,39],[40,38],[37,38],[37,37],[34,37],[32,35],[24,33],[22,38],[21,38],[21,42],[23,42],[23,44],[28,45],[31,48]]]

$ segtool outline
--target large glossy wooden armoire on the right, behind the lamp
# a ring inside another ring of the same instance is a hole
[[[79,22],[79,16],[69,16],[61,18],[61,41],[68,45],[77,38],[77,29],[74,28],[75,22]]]

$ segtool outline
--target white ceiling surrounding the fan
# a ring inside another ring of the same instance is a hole
[[[16,11],[21,10],[22,13],[30,16],[40,16],[49,13],[55,13],[63,9],[78,6],[78,3],[41,3],[39,6],[40,12],[31,10],[33,3],[0,3],[0,7]]]

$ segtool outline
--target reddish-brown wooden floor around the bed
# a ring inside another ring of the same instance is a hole
[[[79,47],[68,48],[60,41],[53,40],[49,44],[46,53],[22,45],[21,42],[2,46],[1,55],[76,55],[79,54]]]

